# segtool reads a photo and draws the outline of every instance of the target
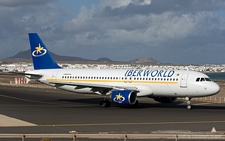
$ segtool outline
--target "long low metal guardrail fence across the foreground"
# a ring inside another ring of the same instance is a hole
[[[224,134],[0,134],[1,139],[225,140]]]

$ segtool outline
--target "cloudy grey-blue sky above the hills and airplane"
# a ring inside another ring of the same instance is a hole
[[[225,64],[224,0],[0,0],[0,58],[30,32],[58,55]]]

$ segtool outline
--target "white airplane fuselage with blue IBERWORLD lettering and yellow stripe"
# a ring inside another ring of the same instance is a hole
[[[137,96],[148,97],[202,97],[214,95],[220,87],[208,76],[186,70],[120,70],[120,69],[42,69],[27,74],[42,75],[40,82],[84,83],[112,87],[136,88]],[[58,86],[76,93],[97,93],[91,87],[73,85]]]

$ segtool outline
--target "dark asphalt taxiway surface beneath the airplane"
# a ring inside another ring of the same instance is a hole
[[[3,126],[0,133],[152,133],[165,131],[225,131],[225,104],[178,101],[162,104],[140,98],[139,106],[101,108],[98,95],[82,95],[62,90],[0,85],[0,114],[35,124]],[[2,120],[2,119],[0,119]],[[1,121],[4,122],[4,121]]]

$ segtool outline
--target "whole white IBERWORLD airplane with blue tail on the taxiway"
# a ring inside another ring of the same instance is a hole
[[[206,74],[163,69],[64,69],[50,55],[37,33],[28,33],[34,70],[25,76],[66,91],[103,96],[101,107],[111,103],[138,106],[138,97],[167,103],[217,94],[220,87]]]

